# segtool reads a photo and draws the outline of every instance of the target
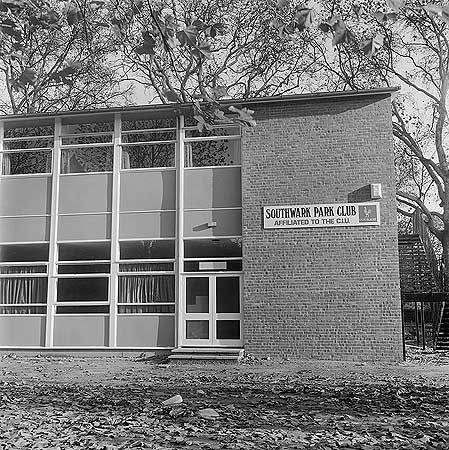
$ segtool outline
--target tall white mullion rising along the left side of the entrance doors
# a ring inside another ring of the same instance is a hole
[[[175,347],[182,345],[183,330],[183,280],[181,272],[184,271],[184,116],[177,120],[178,139],[175,145],[175,167],[176,167],[176,248],[175,248]]]

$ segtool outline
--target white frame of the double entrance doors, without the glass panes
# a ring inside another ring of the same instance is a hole
[[[188,313],[186,312],[186,287],[187,278],[208,278],[209,281],[209,312]],[[216,312],[216,280],[217,278],[238,278],[239,280],[239,312],[238,313],[217,313]],[[243,345],[243,313],[242,313],[242,285],[243,274],[231,272],[193,272],[181,275],[181,298],[179,301],[179,311],[181,322],[180,346],[181,347],[241,347]],[[187,320],[208,320],[209,339],[186,339]],[[240,339],[217,339],[217,320],[238,320]]]

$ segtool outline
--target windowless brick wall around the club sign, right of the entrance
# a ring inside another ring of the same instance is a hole
[[[257,355],[402,357],[389,94],[254,105],[242,143],[244,339]],[[268,205],[367,201],[380,226],[264,230]]]

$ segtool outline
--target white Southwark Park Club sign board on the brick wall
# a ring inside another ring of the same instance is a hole
[[[380,224],[379,203],[264,206],[263,227],[359,227]]]

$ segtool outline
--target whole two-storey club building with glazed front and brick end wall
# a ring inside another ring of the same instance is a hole
[[[399,360],[392,93],[1,117],[0,346]]]

